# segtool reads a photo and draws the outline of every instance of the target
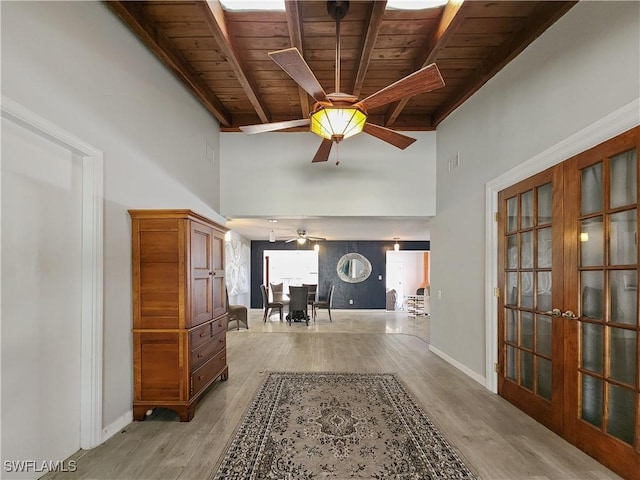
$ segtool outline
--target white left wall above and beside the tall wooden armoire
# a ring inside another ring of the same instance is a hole
[[[104,152],[104,409],[131,411],[129,208],[214,220],[217,122],[98,2],[1,2],[2,94]]]

